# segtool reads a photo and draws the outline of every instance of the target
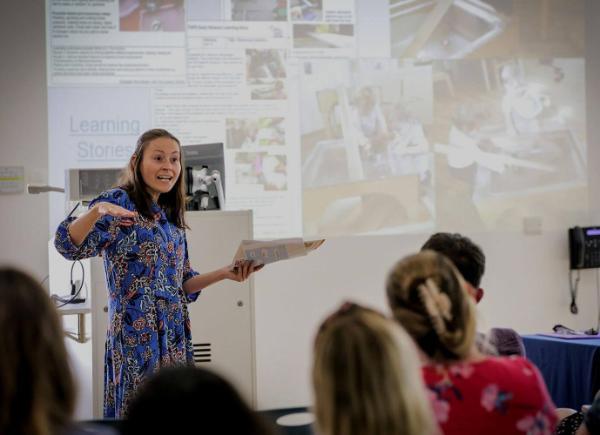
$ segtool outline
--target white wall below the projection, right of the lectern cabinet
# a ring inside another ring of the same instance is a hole
[[[596,326],[595,271],[582,272],[577,316],[569,312],[566,230],[467,234],[487,256],[481,330],[510,326],[550,332],[556,323]],[[312,340],[322,318],[346,298],[386,310],[385,276],[425,236],[328,240],[308,257],[274,264],[255,277],[258,404],[262,409],[310,402]]]

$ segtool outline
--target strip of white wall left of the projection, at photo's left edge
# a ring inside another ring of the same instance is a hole
[[[0,15],[0,165],[47,181],[44,2],[5,2]],[[0,264],[48,273],[48,196],[0,195]]]

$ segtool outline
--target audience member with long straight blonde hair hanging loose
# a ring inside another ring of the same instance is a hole
[[[414,344],[376,311],[346,303],[323,322],[312,379],[321,435],[439,433]]]

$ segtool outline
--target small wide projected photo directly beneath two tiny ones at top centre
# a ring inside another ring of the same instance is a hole
[[[294,48],[352,48],[353,24],[294,24]]]

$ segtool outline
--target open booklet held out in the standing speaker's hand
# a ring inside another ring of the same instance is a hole
[[[275,263],[276,261],[300,257],[314,251],[325,242],[325,239],[305,242],[300,237],[277,240],[242,240],[232,266],[235,270],[241,262],[251,260],[256,265]]]

